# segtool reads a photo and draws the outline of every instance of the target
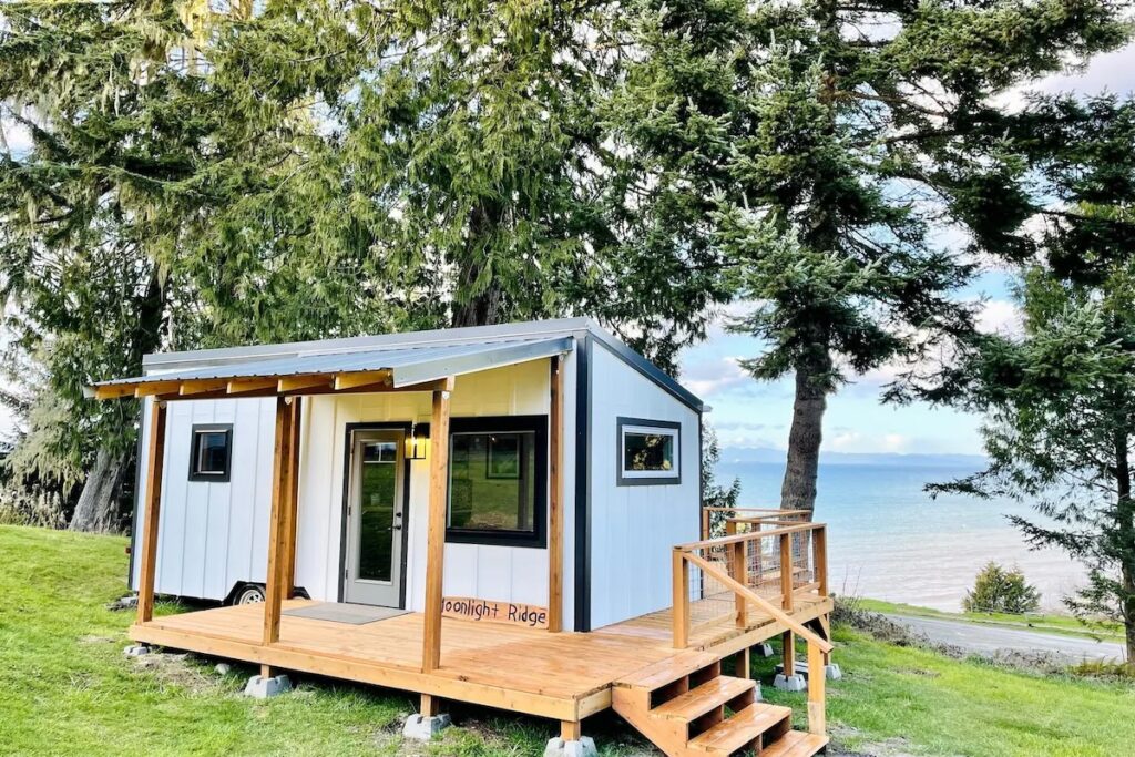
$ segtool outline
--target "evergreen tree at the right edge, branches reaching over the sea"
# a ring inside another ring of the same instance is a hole
[[[985,413],[986,470],[935,487],[1012,497],[1037,546],[1084,564],[1066,599],[1126,628],[1135,661],[1135,101],[1039,100],[1019,116],[1039,166],[1037,259],[1022,275],[1024,334],[981,336],[915,394]]]

